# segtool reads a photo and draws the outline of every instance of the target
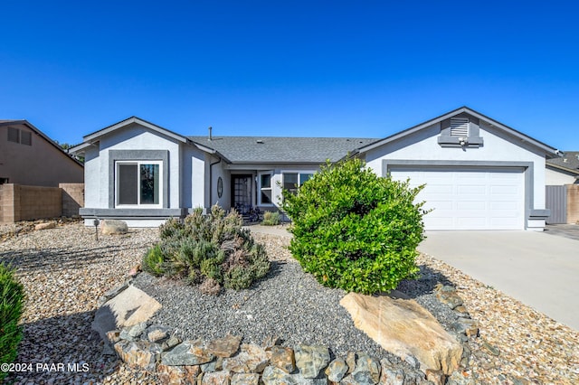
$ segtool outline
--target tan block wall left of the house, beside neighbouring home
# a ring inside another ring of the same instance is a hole
[[[84,183],[59,187],[0,185],[0,223],[32,221],[79,214],[84,205]]]

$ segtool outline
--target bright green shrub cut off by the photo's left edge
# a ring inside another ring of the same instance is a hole
[[[18,325],[23,313],[24,286],[14,277],[14,269],[0,263],[0,362],[14,362],[22,328]],[[0,371],[0,380],[7,372]]]

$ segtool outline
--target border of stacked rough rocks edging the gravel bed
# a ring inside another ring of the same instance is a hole
[[[130,284],[128,280],[111,289],[100,303]],[[463,353],[459,369],[450,376],[420,368],[413,356],[405,357],[413,367],[409,370],[386,359],[378,361],[365,352],[335,357],[320,345],[281,346],[279,336],[271,336],[261,346],[242,343],[242,336],[229,334],[212,341],[181,341],[170,328],[148,322],[109,331],[104,353],[111,353],[112,346],[128,366],[155,373],[166,384],[474,384],[468,368],[470,343],[476,343],[478,325],[462,305],[455,287],[438,284],[434,291],[437,299],[458,315],[451,333],[462,343]],[[492,346],[488,350],[499,353]]]

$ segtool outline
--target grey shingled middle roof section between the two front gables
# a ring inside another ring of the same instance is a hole
[[[377,139],[358,137],[187,136],[195,144],[214,148],[231,163],[323,164]]]

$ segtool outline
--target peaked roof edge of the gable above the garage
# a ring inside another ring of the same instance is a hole
[[[497,120],[495,120],[491,117],[487,117],[487,116],[475,111],[474,109],[468,108],[466,106],[454,109],[451,112],[447,112],[446,114],[441,115],[440,117],[434,117],[434,118],[427,120],[419,125],[407,128],[407,129],[405,129],[397,134],[394,134],[392,136],[387,136],[384,139],[376,141],[375,143],[369,144],[367,146],[362,146],[361,148],[358,149],[358,152],[364,153],[364,152],[372,150],[373,148],[376,148],[378,146],[384,146],[385,144],[394,142],[395,140],[401,139],[404,136],[412,135],[415,132],[421,131],[422,129],[427,128],[427,127],[431,127],[432,125],[434,125],[436,123],[440,123],[442,120],[454,117],[454,116],[461,114],[463,112],[470,114],[473,117],[478,117],[479,119],[484,120],[487,123],[489,123],[490,126],[497,127],[499,129],[501,129],[503,132],[506,132],[510,136],[514,136],[519,140],[522,140],[524,142],[527,142],[533,146],[536,146],[536,147],[542,149],[543,151],[546,152],[547,156],[549,156],[549,157],[555,157],[555,156],[560,155],[560,151],[557,150],[555,147],[548,146],[545,143],[540,142],[540,141],[532,138],[531,136],[527,136],[527,135],[523,134],[522,132],[517,131],[515,128],[508,127],[507,125],[504,125],[504,124],[498,122]]]

